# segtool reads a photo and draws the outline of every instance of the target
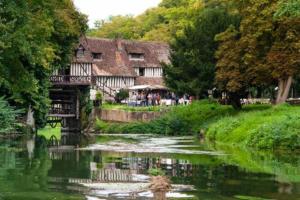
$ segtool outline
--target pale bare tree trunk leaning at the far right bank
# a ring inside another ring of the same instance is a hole
[[[279,79],[276,104],[282,104],[286,102],[290,93],[292,82],[292,76],[289,76],[287,79]]]

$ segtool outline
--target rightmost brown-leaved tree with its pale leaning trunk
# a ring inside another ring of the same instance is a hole
[[[275,13],[274,43],[268,53],[272,76],[278,80],[276,103],[288,98],[293,78],[300,71],[300,2],[281,2]]]

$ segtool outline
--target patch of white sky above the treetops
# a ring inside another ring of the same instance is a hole
[[[89,17],[89,26],[111,15],[139,15],[157,6],[161,0],[73,0],[75,6]]]

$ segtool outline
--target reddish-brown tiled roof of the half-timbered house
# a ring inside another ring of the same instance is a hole
[[[82,37],[80,45],[85,56],[79,62],[93,62],[94,75],[136,76],[134,67],[161,67],[169,63],[169,46],[164,43],[140,42],[121,39]],[[92,53],[101,53],[101,61],[93,61]],[[144,60],[130,60],[129,54],[144,55]]]

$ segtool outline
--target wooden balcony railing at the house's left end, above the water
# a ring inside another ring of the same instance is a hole
[[[50,81],[53,85],[91,85],[92,76],[52,75]]]

